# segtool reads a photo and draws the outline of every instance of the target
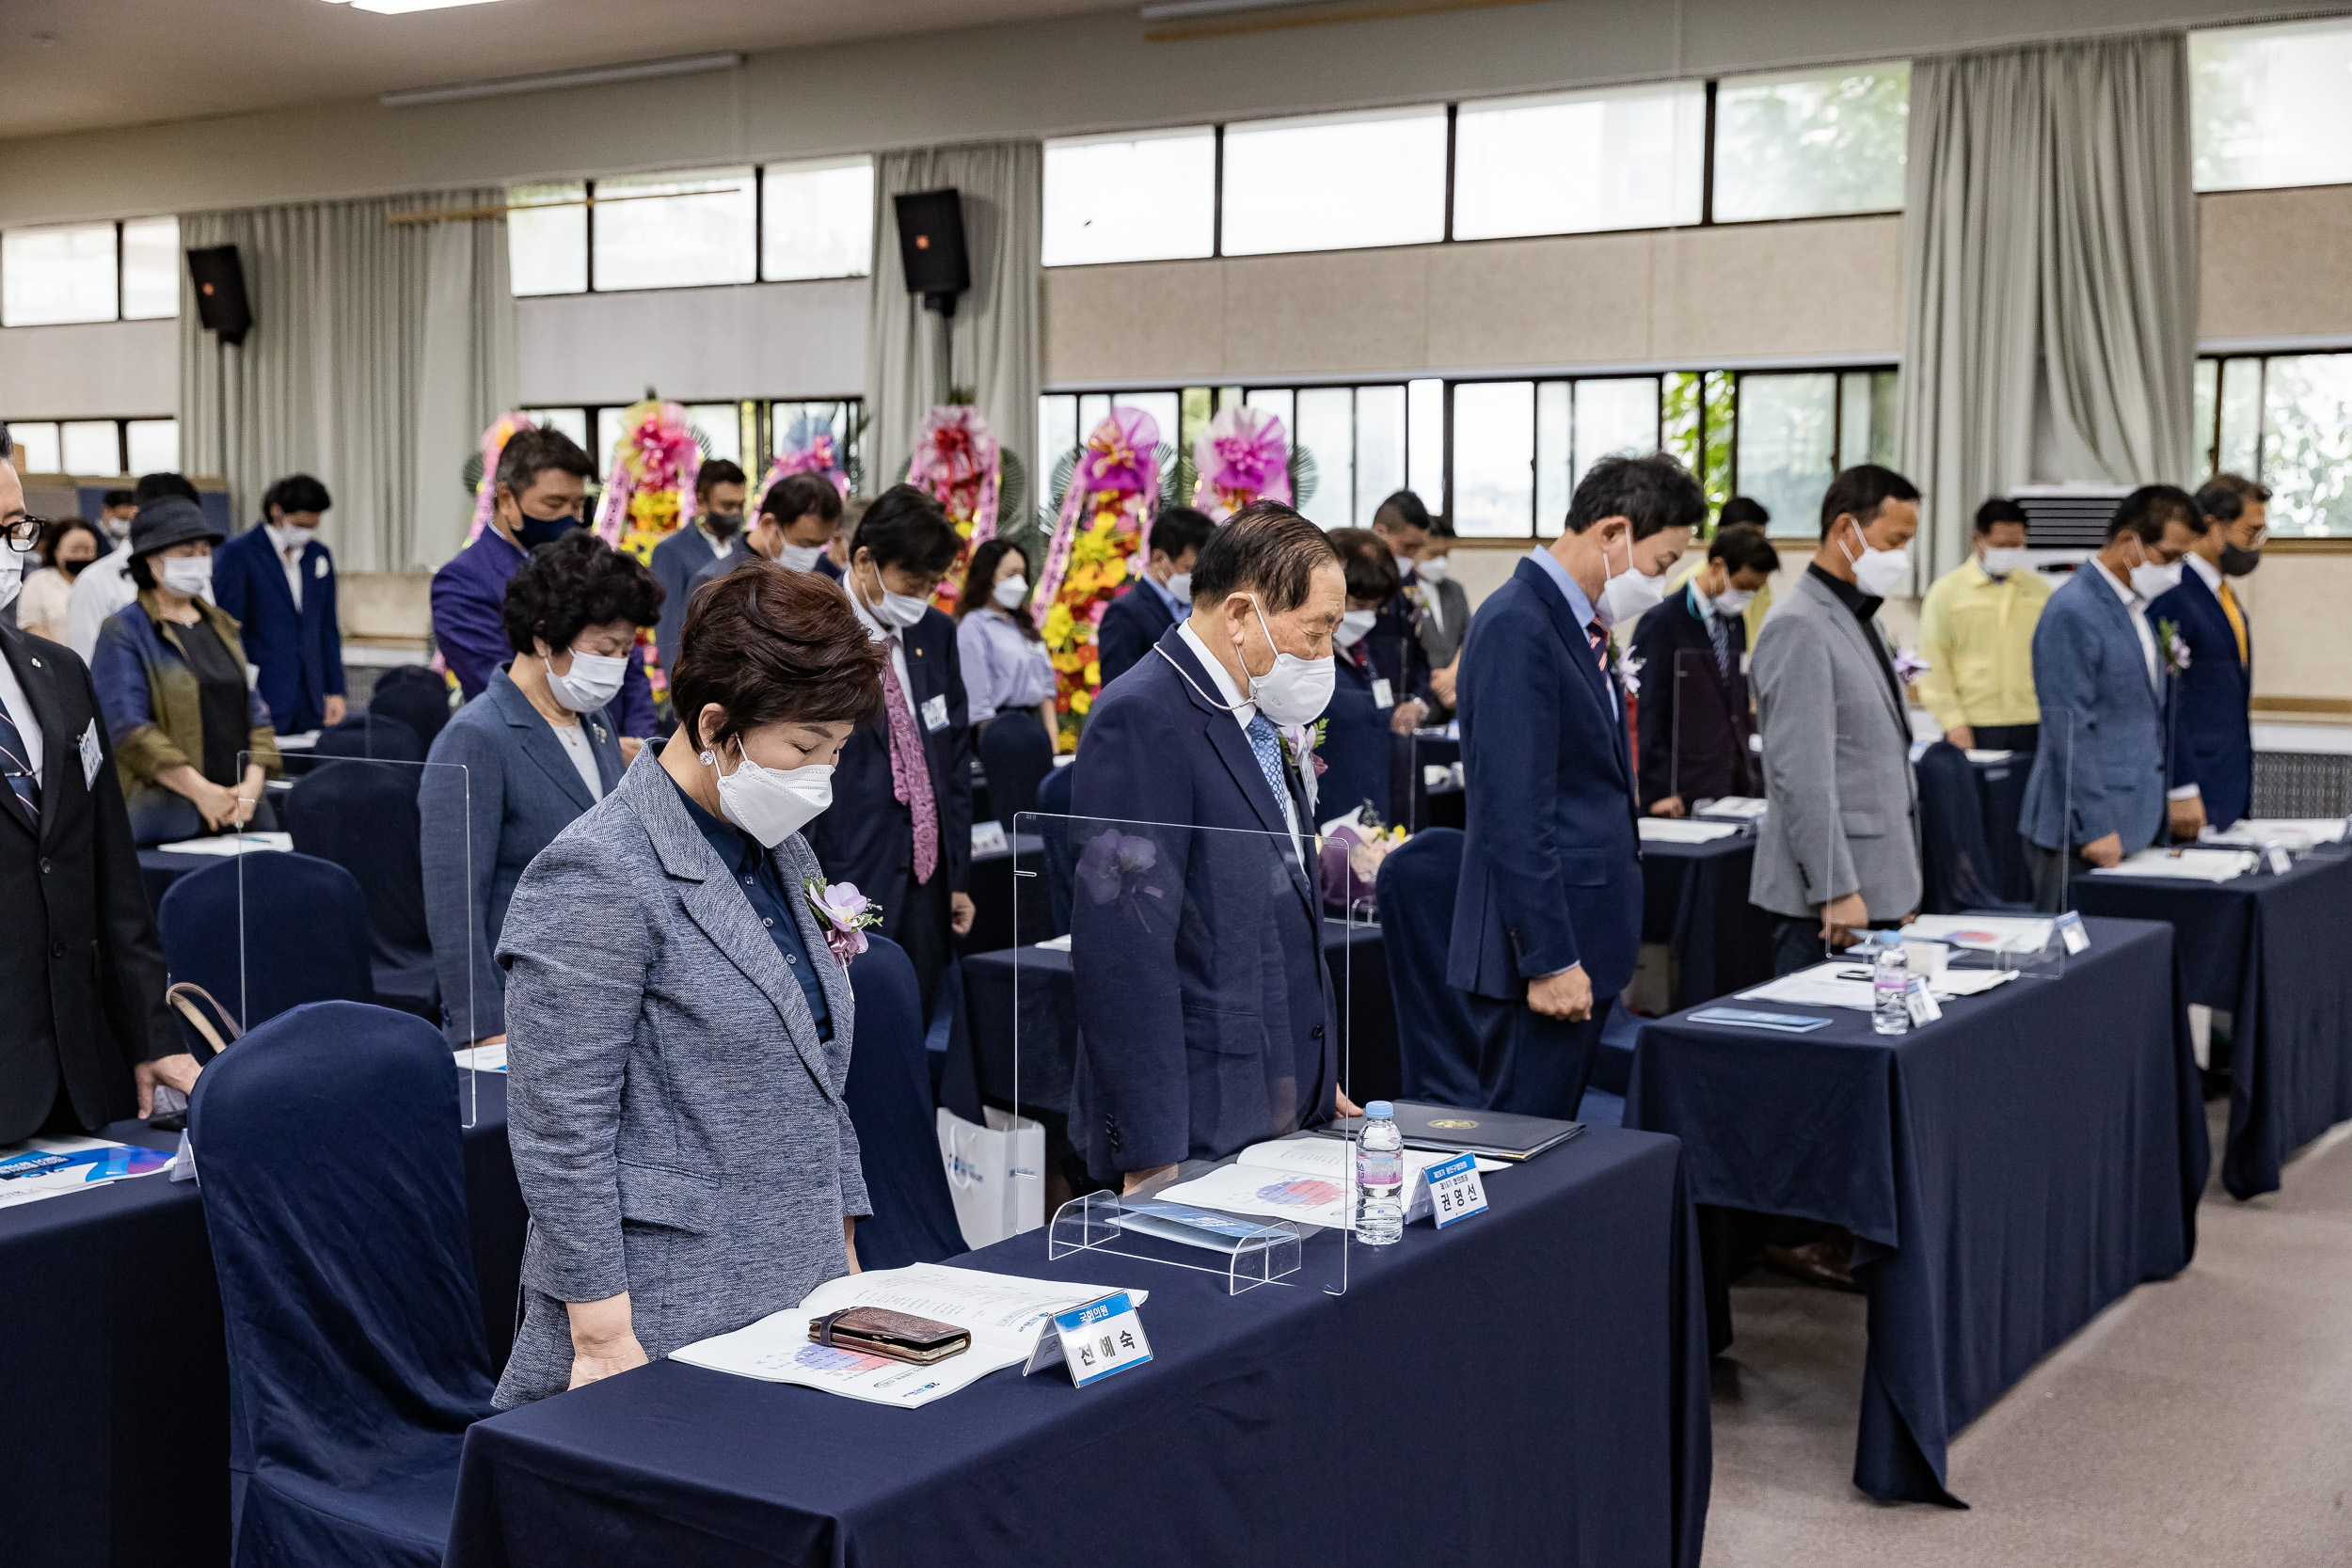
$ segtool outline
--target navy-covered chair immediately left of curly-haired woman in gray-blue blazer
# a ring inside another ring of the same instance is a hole
[[[299,853],[334,860],[358,877],[367,896],[376,1001],[437,1023],[416,778],[407,762],[336,759],[306,773],[278,811]]]

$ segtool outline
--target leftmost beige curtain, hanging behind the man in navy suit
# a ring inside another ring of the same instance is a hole
[[[254,306],[221,348],[181,282],[181,463],[228,480],[240,524],[310,473],[343,571],[421,571],[466,541],[466,458],[515,397],[506,219],[388,219],[503,205],[477,188],[181,216],[181,244],[238,247]]]

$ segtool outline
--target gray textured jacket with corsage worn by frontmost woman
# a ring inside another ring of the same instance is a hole
[[[790,889],[821,877],[797,835]],[[833,1039],[654,748],[522,875],[506,912],[506,1140],[532,1211],[499,1408],[572,1380],[564,1302],[628,1291],[661,1359],[849,1272],[868,1213],[842,1086],[856,1001],[804,900]]]

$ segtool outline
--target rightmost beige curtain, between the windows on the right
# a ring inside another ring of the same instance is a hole
[[[2187,113],[2178,33],[1912,66],[1896,463],[1933,571],[2030,480],[2194,482]]]

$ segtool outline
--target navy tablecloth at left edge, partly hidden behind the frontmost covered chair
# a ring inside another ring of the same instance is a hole
[[[485,1072],[480,1091],[466,1199],[482,1326],[503,1366],[524,1208],[506,1079]],[[179,1143],[141,1121],[103,1135]],[[14,1439],[0,1465],[7,1568],[228,1561],[228,1349],[195,1185],[158,1173],[0,1208],[0,1410]]]

